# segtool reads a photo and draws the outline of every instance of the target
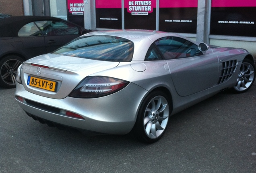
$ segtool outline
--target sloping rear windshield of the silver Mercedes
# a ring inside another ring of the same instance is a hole
[[[133,42],[125,38],[95,35],[77,38],[52,53],[93,60],[130,62],[133,50]]]

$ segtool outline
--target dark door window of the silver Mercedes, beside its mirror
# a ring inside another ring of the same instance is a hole
[[[165,59],[188,58],[201,55],[198,46],[179,37],[163,37],[155,41]]]

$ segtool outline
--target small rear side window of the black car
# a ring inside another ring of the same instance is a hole
[[[37,28],[34,22],[25,24],[18,32],[18,36],[42,36],[41,31]]]

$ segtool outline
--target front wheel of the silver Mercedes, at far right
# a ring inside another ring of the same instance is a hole
[[[237,83],[231,89],[233,93],[244,93],[252,87],[255,80],[255,64],[249,59],[244,59],[241,64]]]

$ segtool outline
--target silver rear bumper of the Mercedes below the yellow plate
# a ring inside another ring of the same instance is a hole
[[[37,120],[42,119],[45,123],[122,135],[129,133],[133,128],[138,108],[146,94],[145,89],[130,83],[121,91],[105,97],[52,99],[30,93],[22,84],[17,83],[15,98],[29,116]],[[61,110],[76,113],[84,119],[62,115]]]

